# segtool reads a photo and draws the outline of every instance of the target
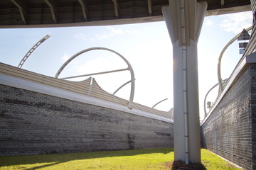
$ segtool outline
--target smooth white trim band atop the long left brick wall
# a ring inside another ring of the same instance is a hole
[[[52,86],[46,86],[44,84],[38,84],[36,82],[27,81],[24,79],[18,79],[15,77],[6,76],[4,74],[0,74],[0,84],[6,85],[6,86],[12,86],[19,89],[25,89],[28,91],[34,91],[41,94],[47,94],[50,96],[56,96],[60,98],[65,98],[72,101],[79,101],[82,103],[87,103],[95,106],[101,106],[105,108],[111,108],[117,111],[123,111],[126,113],[131,113],[134,115],[141,115],[146,118],[152,118],[156,120],[161,120],[167,123],[174,123],[173,119],[166,118],[161,115],[156,115],[154,113],[148,113],[146,111],[141,111],[139,109],[133,108],[132,110],[127,108],[126,106],[119,105],[117,103],[113,103],[110,101],[104,101],[100,98],[94,98],[92,96],[86,96],[82,94],[77,94],[72,91],[64,90],[64,89],[58,89]]]

